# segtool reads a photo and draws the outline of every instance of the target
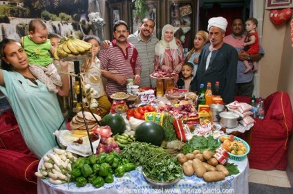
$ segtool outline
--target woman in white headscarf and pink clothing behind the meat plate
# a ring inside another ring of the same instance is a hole
[[[171,69],[177,74],[181,72],[182,65],[185,62],[182,45],[176,44],[174,37],[174,27],[164,25],[162,29],[162,38],[155,45],[155,70]],[[173,79],[174,85],[178,78]]]

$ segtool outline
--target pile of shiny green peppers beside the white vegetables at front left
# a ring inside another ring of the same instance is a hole
[[[98,156],[91,155],[88,158],[77,158],[73,163],[70,181],[75,181],[76,186],[93,184],[96,188],[105,183],[114,182],[114,177],[122,177],[125,172],[135,170],[135,164],[122,158],[117,151],[100,153]]]

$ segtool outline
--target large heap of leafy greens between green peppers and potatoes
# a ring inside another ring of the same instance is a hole
[[[136,166],[142,166],[151,180],[168,182],[182,176],[182,166],[161,147],[133,142],[122,150],[122,155]]]

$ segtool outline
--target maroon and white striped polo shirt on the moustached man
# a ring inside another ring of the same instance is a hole
[[[135,47],[133,44],[126,41],[126,53],[116,45],[114,39],[111,44],[100,52],[101,69],[106,71],[115,71],[118,75],[124,75],[126,78],[133,78],[133,51]],[[135,69],[141,69],[142,63],[140,57],[137,55],[135,62]],[[126,85],[120,85],[115,80],[108,79],[106,85],[106,94],[111,96],[116,92],[126,92]]]

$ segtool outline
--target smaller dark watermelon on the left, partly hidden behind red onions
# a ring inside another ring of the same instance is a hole
[[[108,125],[113,133],[112,136],[124,133],[126,127],[124,119],[119,114],[107,114],[102,118],[101,125]]]

